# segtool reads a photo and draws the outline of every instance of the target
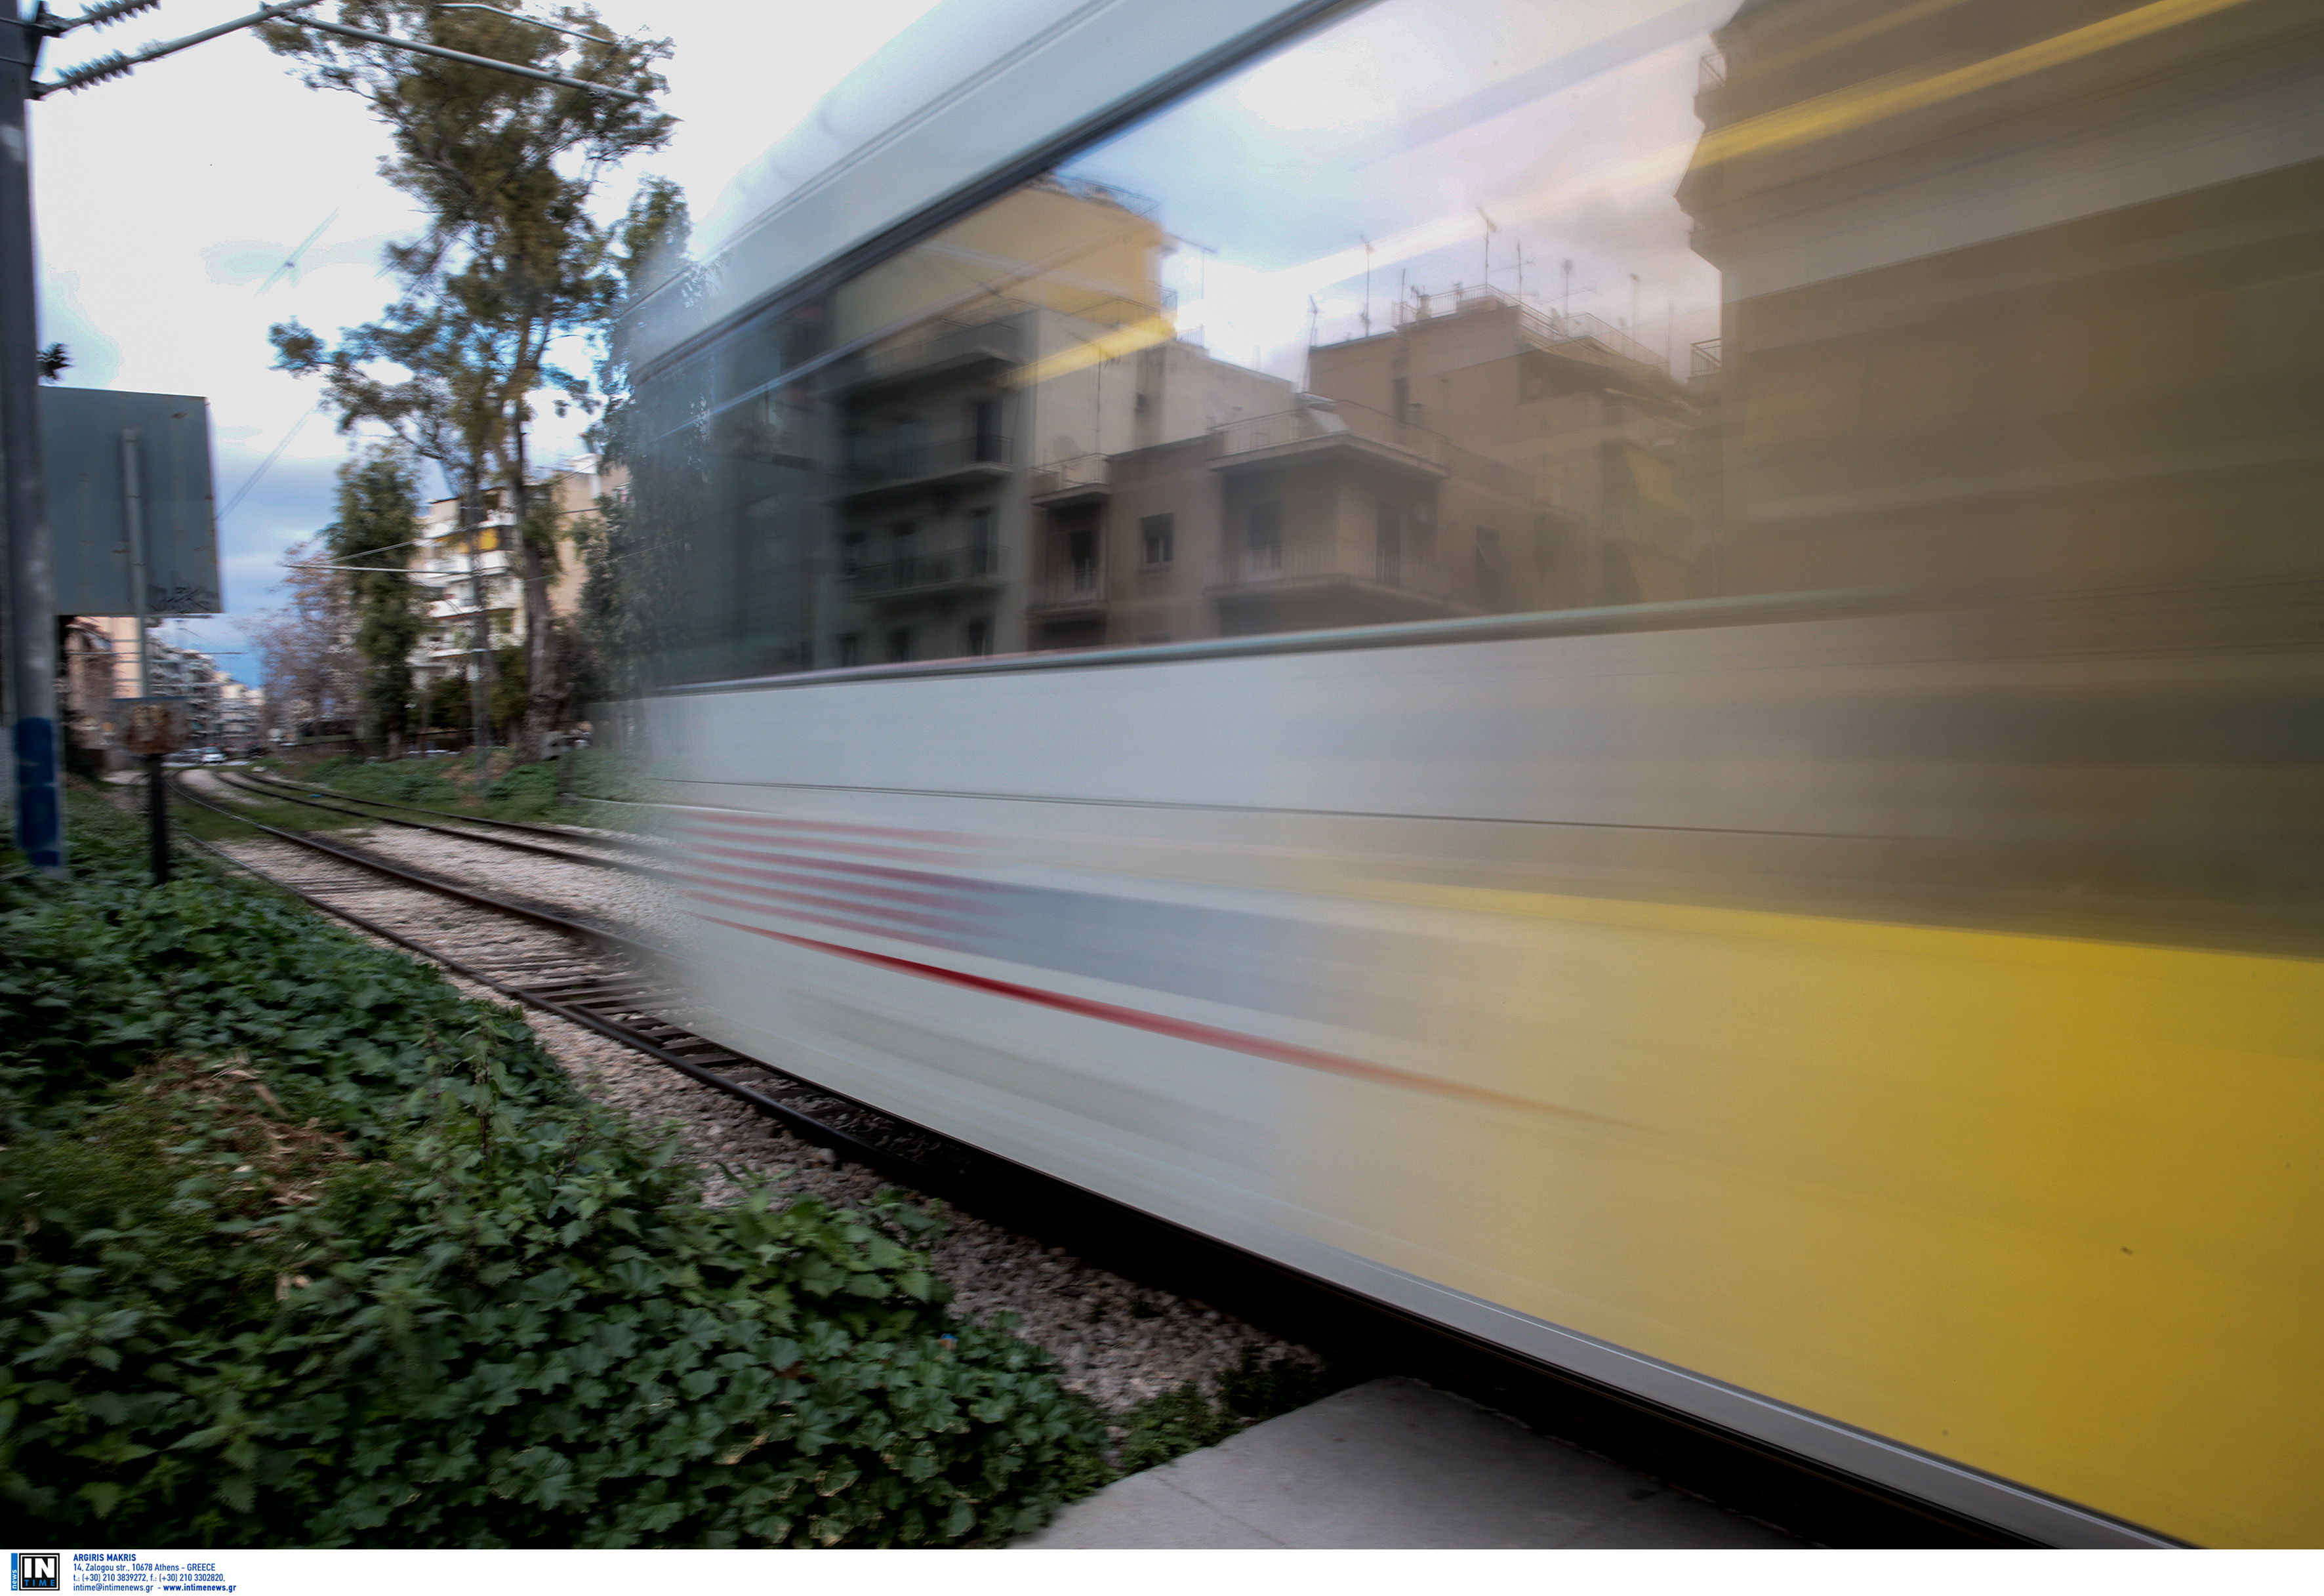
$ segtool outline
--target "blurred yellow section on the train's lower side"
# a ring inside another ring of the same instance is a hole
[[[1422,911],[1436,966],[1387,978],[1478,1085],[1620,1124],[1339,1092],[1297,1131],[1325,1238],[2187,1540],[2324,1543],[2324,964],[1334,885]]]

